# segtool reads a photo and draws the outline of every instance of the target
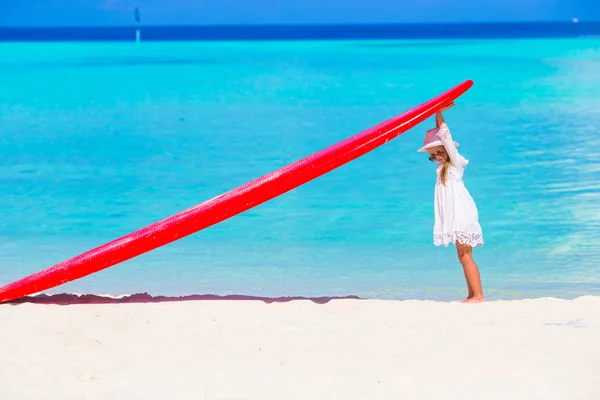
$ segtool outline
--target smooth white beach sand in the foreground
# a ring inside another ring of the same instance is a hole
[[[0,398],[600,399],[600,297],[0,305]]]

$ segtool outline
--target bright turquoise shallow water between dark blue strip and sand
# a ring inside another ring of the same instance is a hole
[[[489,299],[600,295],[600,38],[0,43],[0,285],[473,79]],[[430,119],[244,214],[50,290],[453,300]]]

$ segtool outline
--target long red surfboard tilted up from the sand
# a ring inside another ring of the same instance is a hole
[[[35,294],[137,257],[303,185],[387,143],[473,86],[468,80],[394,118],[227,193],[0,288],[0,302]]]

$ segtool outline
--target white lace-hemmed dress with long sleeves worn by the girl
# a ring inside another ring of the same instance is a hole
[[[448,247],[448,244],[458,241],[471,247],[481,246],[483,233],[478,221],[477,206],[462,181],[469,161],[458,153],[445,122],[441,124],[437,135],[448,153],[451,165],[446,172],[445,185],[440,178],[442,164],[436,169],[433,243]]]

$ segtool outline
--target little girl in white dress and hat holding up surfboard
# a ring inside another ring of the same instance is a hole
[[[439,162],[436,168],[433,243],[446,247],[449,243],[455,244],[469,291],[467,298],[461,301],[477,303],[485,301],[485,298],[472,249],[483,245],[483,234],[478,222],[477,206],[462,181],[469,161],[456,150],[458,143],[452,141],[442,116],[442,112],[452,107],[454,103],[436,113],[436,128],[427,131],[425,143],[417,151],[427,151],[430,161]]]

